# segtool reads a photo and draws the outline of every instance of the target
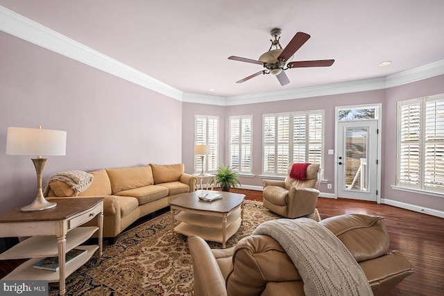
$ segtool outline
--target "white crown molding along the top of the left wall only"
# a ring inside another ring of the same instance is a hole
[[[94,49],[88,46],[3,6],[0,6],[0,30],[114,76],[134,82],[154,92],[176,98],[179,101],[182,100],[182,92],[180,90],[114,60],[103,53],[99,53],[99,51],[94,51]]]

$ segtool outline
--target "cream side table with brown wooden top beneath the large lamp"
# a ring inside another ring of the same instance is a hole
[[[65,279],[85,264],[99,249],[103,250],[104,198],[54,198],[57,206],[44,211],[22,212],[14,209],[0,214],[0,237],[31,236],[0,254],[0,260],[31,258],[3,279],[59,281],[60,295],[65,295]],[[79,227],[98,216],[96,227]],[[80,245],[95,232],[99,232],[99,245]],[[87,250],[65,265],[65,254],[74,249]],[[33,268],[42,258],[58,256],[59,272]]]

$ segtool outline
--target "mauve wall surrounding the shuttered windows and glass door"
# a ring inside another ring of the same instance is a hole
[[[325,183],[321,184],[321,192],[334,193],[334,155],[328,155],[327,150],[334,149],[334,112],[336,106],[382,104],[382,155],[379,158],[381,169],[381,197],[398,202],[413,204],[418,207],[427,207],[444,211],[444,198],[406,191],[394,190],[396,177],[396,106],[398,101],[410,98],[420,98],[444,93],[444,76],[436,76],[418,82],[412,82],[399,87],[381,89],[369,92],[356,92],[351,94],[338,94],[332,96],[320,96],[314,98],[298,98],[287,101],[268,103],[234,105],[225,107],[225,125],[220,132],[221,144],[228,146],[228,131],[226,125],[228,118],[235,115],[253,115],[253,174],[255,177],[241,177],[243,185],[262,186],[259,177],[262,170],[262,114],[273,112],[291,112],[298,110],[325,110],[325,166],[324,179],[332,183],[333,188],[327,189]],[[182,113],[182,159],[188,167],[193,166],[193,139],[194,139],[194,114],[219,114],[223,118],[222,107],[211,105],[184,103]],[[223,142],[224,141],[224,142]],[[222,150],[221,150],[222,153]],[[228,159],[227,152],[221,154],[221,162]],[[225,162],[226,164],[226,162]]]

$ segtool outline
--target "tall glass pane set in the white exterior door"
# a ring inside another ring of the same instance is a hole
[[[368,128],[345,128],[344,189],[368,192]]]

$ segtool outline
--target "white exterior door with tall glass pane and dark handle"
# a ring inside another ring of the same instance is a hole
[[[377,121],[338,123],[337,196],[377,201]]]

